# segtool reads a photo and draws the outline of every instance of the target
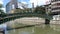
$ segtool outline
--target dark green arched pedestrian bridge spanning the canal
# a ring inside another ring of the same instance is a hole
[[[51,19],[51,16],[48,16],[46,14],[39,14],[39,13],[14,13],[14,14],[5,14],[0,16],[0,23],[4,23],[10,20],[23,18],[23,17],[39,17],[44,19]]]

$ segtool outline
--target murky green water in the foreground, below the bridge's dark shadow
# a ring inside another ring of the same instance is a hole
[[[60,34],[60,25],[37,25],[8,31],[8,34]]]

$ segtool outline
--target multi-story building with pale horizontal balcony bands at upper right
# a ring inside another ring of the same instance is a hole
[[[51,0],[51,9],[53,14],[60,14],[60,0]]]

